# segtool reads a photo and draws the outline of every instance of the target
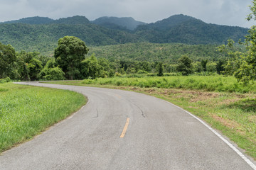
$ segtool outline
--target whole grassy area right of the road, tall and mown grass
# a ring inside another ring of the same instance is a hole
[[[256,84],[234,77],[144,77],[58,81],[138,91],[181,106],[228,136],[256,159]]]

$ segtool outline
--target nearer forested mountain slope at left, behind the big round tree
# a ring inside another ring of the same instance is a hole
[[[72,35],[86,42],[86,45],[114,45],[141,40],[137,35],[111,30],[95,24],[0,24],[0,42],[11,44],[17,51],[39,51],[52,55],[59,38]]]

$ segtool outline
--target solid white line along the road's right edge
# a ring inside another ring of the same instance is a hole
[[[165,101],[167,103],[170,103],[169,101]],[[173,103],[170,103],[173,106],[176,106]],[[207,125],[206,123],[203,122],[203,120],[201,120],[200,118],[197,118],[196,115],[193,115],[192,113],[189,113],[188,111],[184,110],[183,108],[176,106],[177,108],[180,108],[182,111],[188,113],[188,115],[191,115],[193,118],[196,118],[196,120],[198,120],[199,122],[201,122],[203,125],[206,126],[206,128],[208,128],[210,131],[212,131],[215,135],[217,135],[220,140],[223,140],[223,142],[225,142],[231,149],[233,149],[242,159],[245,160],[245,162],[247,162],[247,164],[249,164],[253,170],[256,170],[256,165],[253,164],[250,159],[248,159],[247,157],[245,157],[244,154],[242,154],[242,152],[240,152],[234,145],[232,145],[230,142],[228,142],[228,140],[226,140],[223,136],[221,136],[218,132],[216,132],[215,130],[213,130],[213,128],[210,128],[209,125]]]

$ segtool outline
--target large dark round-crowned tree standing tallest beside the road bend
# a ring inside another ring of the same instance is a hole
[[[73,36],[65,36],[58,40],[58,47],[54,50],[54,57],[60,68],[69,79],[73,80],[73,76],[79,72],[79,65],[85,60],[85,55],[89,49],[85,42]]]

